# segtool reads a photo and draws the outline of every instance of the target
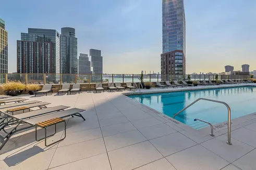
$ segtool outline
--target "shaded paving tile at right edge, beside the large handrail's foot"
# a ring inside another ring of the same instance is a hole
[[[239,128],[231,133],[231,137],[256,147],[256,132],[247,128]]]

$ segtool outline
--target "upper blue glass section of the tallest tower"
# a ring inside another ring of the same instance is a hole
[[[186,54],[184,0],[163,0],[163,53],[182,50]]]

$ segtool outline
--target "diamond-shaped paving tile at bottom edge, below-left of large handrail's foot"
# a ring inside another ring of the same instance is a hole
[[[200,145],[169,155],[166,159],[178,170],[219,170],[229,164]]]

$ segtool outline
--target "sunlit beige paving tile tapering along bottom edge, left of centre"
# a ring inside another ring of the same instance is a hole
[[[71,162],[62,166],[57,166],[51,170],[111,170],[107,154],[102,153],[80,161]]]

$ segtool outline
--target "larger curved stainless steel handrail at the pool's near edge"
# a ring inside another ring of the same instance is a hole
[[[199,100],[206,100],[206,101],[212,101],[212,102],[216,102],[216,103],[222,103],[227,107],[227,124],[228,124],[228,130],[227,130],[227,144],[228,145],[232,145],[231,143],[231,109],[228,106],[227,103],[223,102],[223,101],[218,101],[218,100],[212,100],[212,99],[206,99],[206,98],[198,98],[197,100],[193,101],[192,103],[190,103],[187,107],[185,107],[184,109],[180,110],[178,113],[176,113],[173,118],[175,119],[175,116],[178,115],[179,113],[183,112],[184,110],[186,110],[187,108],[189,108],[190,106],[192,106],[194,103],[198,102]]]

